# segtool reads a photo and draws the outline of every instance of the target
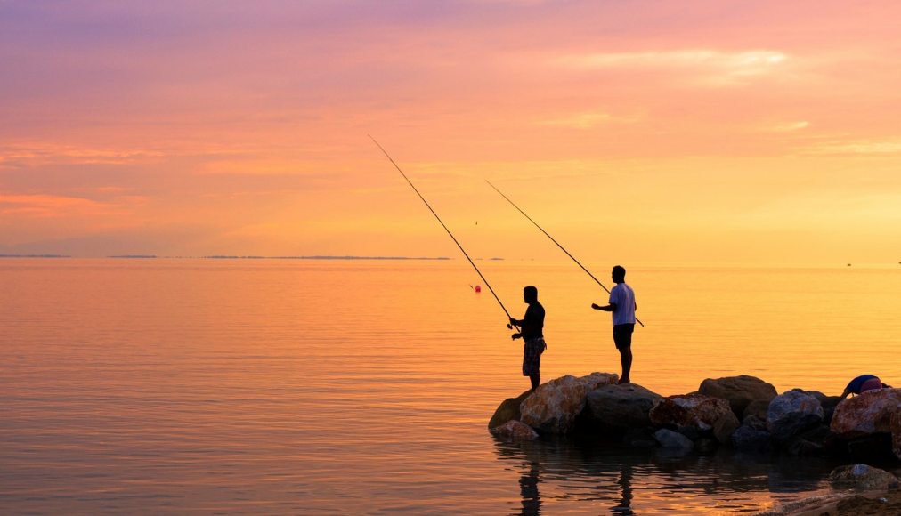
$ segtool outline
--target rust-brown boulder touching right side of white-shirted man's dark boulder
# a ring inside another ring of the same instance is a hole
[[[649,416],[654,425],[674,427],[689,434],[714,433],[720,442],[728,442],[739,427],[729,402],[696,393],[661,398]]]

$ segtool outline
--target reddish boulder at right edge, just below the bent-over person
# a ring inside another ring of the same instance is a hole
[[[843,400],[830,428],[844,438],[891,432],[892,415],[901,411],[901,389],[878,389]]]

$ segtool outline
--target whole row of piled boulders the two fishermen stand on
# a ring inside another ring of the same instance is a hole
[[[633,447],[901,459],[901,389],[845,400],[754,376],[705,379],[662,396],[611,373],[562,376],[501,403],[488,428],[506,439],[578,433]],[[509,421],[515,423],[507,424]],[[521,424],[520,424],[521,423]],[[503,429],[502,429],[503,427]],[[526,429],[532,431],[526,431]]]

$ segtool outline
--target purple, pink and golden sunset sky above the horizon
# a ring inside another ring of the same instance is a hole
[[[897,264],[899,18],[0,0],[0,254]]]

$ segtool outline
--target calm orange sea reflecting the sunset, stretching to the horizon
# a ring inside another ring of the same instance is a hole
[[[516,317],[538,287],[545,381],[619,372],[584,272],[478,264]],[[633,381],[660,394],[740,374],[780,392],[901,382],[901,267],[627,281],[646,324]],[[494,439],[528,379],[462,260],[6,258],[0,293],[4,513],[754,512],[825,493],[834,466]]]

